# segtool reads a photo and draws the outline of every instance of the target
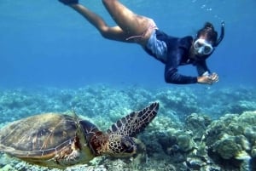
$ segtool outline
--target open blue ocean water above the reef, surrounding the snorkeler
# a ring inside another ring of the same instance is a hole
[[[114,25],[101,1],[81,0]],[[183,37],[211,21],[224,41],[208,60],[218,85],[255,85],[254,0],[123,0],[137,14],[153,18],[166,33]],[[0,3],[0,86],[77,87],[90,83],[162,86],[164,66],[135,44],[103,39],[67,6],[52,0],[2,0]],[[195,68],[183,67],[195,75]],[[170,85],[173,86],[173,85]]]

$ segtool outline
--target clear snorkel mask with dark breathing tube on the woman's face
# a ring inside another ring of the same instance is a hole
[[[199,38],[195,41],[193,46],[198,54],[201,54],[201,55],[212,54],[212,51],[214,50],[214,48],[217,47],[219,43],[221,43],[223,38],[224,38],[224,21],[221,22],[221,33],[216,43],[212,45],[211,43],[207,42],[207,40],[203,38]]]

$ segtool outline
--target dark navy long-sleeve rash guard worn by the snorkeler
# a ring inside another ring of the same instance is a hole
[[[157,60],[160,60],[166,65],[165,68],[165,80],[166,83],[176,83],[176,84],[188,84],[188,83],[197,83],[197,77],[184,76],[178,73],[178,66],[183,65],[194,65],[196,66],[199,76],[202,76],[203,73],[209,71],[207,67],[206,60],[192,60],[189,59],[189,49],[193,42],[193,37],[171,37],[166,35],[166,33],[156,30],[155,31],[157,40],[163,41],[166,43],[167,55],[166,59],[157,58],[155,54],[151,52],[150,49],[145,48],[148,54],[154,56]],[[210,54],[209,54],[210,55]],[[204,59],[207,59],[209,56],[205,56]]]

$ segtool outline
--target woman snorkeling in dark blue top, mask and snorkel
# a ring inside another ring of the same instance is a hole
[[[109,27],[102,18],[79,3],[78,0],[59,0],[82,14],[91,25],[95,26],[102,37],[125,43],[138,43],[156,60],[166,65],[166,83],[205,83],[218,82],[218,74],[211,73],[206,60],[224,37],[224,22],[221,35],[211,23],[207,22],[196,37],[171,37],[160,31],[154,20],[134,14],[118,0],[102,0],[108,13],[118,26]],[[198,77],[183,76],[178,73],[178,66],[196,66]]]

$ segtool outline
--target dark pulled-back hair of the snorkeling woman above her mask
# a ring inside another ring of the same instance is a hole
[[[214,30],[212,23],[207,22],[201,30],[197,31],[196,38],[205,36],[208,41],[212,41],[213,44],[217,42],[218,32]]]

